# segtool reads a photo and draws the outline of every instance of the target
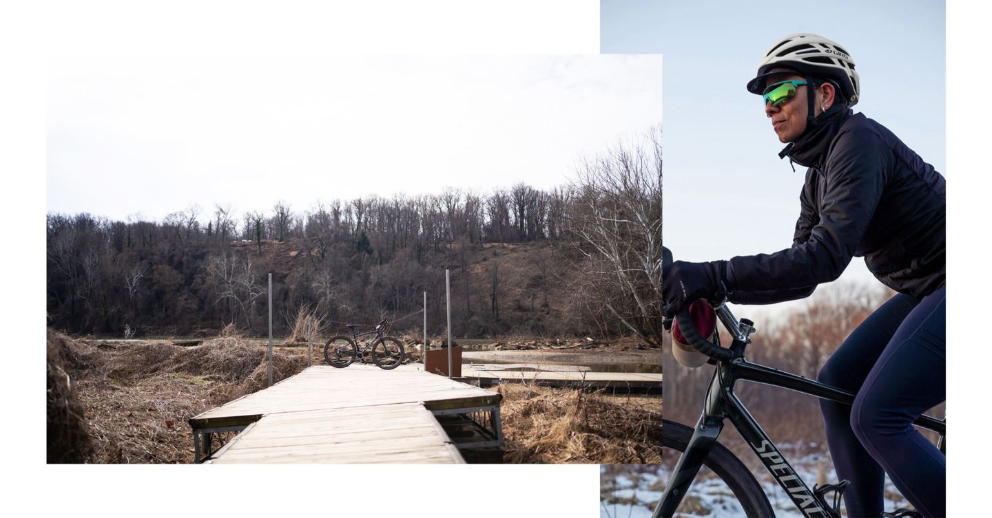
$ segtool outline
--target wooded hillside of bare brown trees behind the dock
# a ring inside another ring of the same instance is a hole
[[[630,334],[661,345],[662,161],[657,131],[581,164],[548,191],[276,202],[233,214],[192,206],[162,221],[50,213],[48,315],[68,333],[267,332],[301,308],[332,328],[395,320],[428,291],[442,329],[452,267],[456,336]],[[421,317],[400,329],[422,327]]]

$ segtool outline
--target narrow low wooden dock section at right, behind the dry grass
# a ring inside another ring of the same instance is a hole
[[[509,365],[513,368],[513,365]],[[582,370],[507,369],[504,365],[462,365],[461,378],[480,387],[500,382],[535,383],[547,386],[612,388],[617,390],[662,390],[662,374],[650,372],[590,372]]]

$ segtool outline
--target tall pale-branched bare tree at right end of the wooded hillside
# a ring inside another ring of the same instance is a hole
[[[662,345],[661,130],[585,160],[571,229],[581,240],[578,286],[645,342]]]

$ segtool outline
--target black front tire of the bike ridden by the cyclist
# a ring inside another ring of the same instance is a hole
[[[662,420],[662,447],[664,449],[662,455],[665,458],[668,458],[669,455],[676,455],[676,452],[681,455],[688,446],[691,437],[691,428],[668,419]],[[762,490],[761,484],[751,474],[751,470],[725,446],[719,443],[713,445],[713,449],[710,450],[709,457],[703,462],[703,466],[712,470],[727,485],[748,518],[775,516],[775,510],[772,508],[771,502],[768,501],[765,491]]]

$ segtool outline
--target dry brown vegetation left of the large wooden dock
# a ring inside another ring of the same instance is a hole
[[[265,347],[237,336],[116,345],[50,330],[48,347],[50,463],[190,463],[187,420],[269,381]],[[274,378],[306,366],[305,352],[279,348]]]

